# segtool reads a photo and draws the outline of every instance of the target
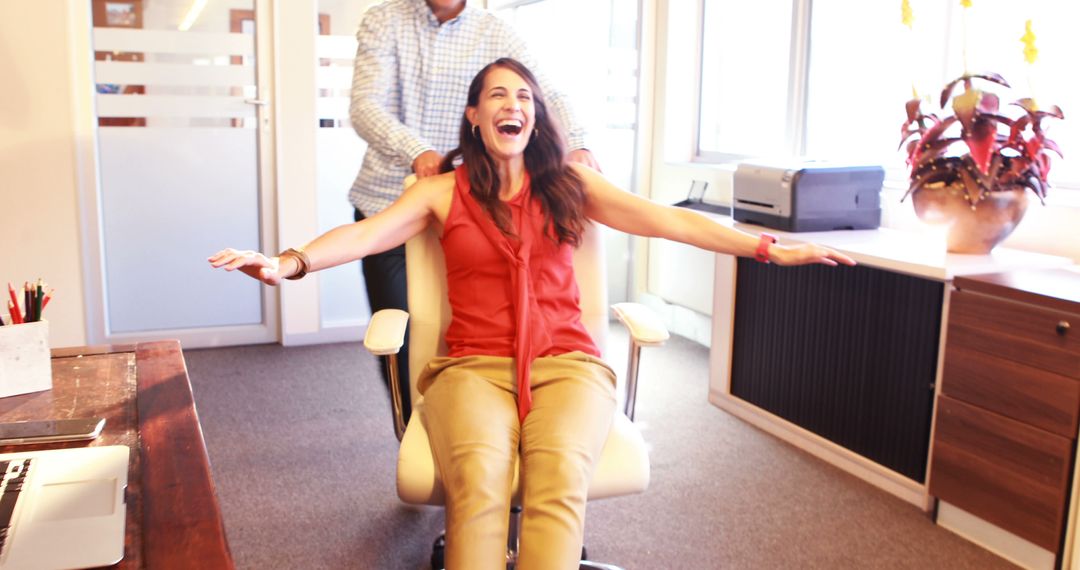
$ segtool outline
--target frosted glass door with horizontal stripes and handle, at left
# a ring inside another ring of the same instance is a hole
[[[270,341],[270,295],[214,271],[265,250],[256,2],[94,0],[105,340]]]

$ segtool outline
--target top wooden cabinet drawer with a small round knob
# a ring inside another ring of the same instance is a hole
[[[953,293],[949,345],[1023,363],[1080,379],[1080,317],[978,293]],[[1059,334],[1059,323],[1069,329]]]

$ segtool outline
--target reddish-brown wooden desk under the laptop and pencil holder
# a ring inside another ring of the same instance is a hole
[[[116,568],[233,568],[177,341],[53,350],[53,389],[0,398],[0,421],[106,418],[90,442],[126,445],[127,535]]]

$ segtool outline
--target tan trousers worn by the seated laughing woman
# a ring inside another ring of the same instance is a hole
[[[418,382],[446,489],[447,570],[505,568],[518,452],[518,570],[578,568],[589,483],[615,413],[611,368],[580,352],[537,358],[524,423],[512,358],[435,358]]]

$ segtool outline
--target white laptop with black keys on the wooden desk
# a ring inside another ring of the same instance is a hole
[[[119,562],[127,456],[127,446],[0,453],[0,569]]]

